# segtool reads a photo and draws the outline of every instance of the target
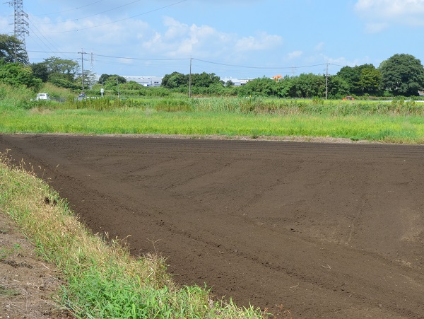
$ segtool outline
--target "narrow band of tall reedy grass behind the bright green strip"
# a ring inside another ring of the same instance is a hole
[[[151,108],[162,112],[230,112],[271,115],[424,115],[424,103],[414,100],[352,102],[270,98],[139,98],[111,102],[109,99],[89,99],[79,103],[67,103],[62,105],[62,108],[92,110]]]

